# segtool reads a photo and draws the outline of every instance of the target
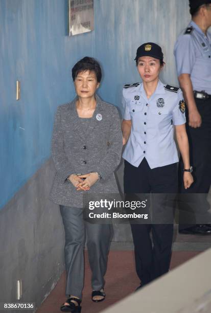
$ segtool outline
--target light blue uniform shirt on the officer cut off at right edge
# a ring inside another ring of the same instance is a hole
[[[193,90],[211,95],[211,34],[205,36],[192,20],[177,38],[174,55],[177,75],[190,74]]]

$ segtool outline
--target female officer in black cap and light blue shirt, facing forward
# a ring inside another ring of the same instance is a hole
[[[157,44],[142,44],[135,60],[143,83],[123,88],[123,144],[127,143],[123,153],[125,193],[176,193],[178,154],[174,126],[184,163],[184,187],[189,188],[193,183],[182,92],[159,80],[164,62]],[[173,224],[131,223],[131,229],[136,272],[142,286],[168,272]]]

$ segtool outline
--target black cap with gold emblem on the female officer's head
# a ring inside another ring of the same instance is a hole
[[[141,56],[151,56],[159,60],[163,59],[162,49],[154,42],[146,42],[143,43],[142,46],[138,47],[135,60]]]

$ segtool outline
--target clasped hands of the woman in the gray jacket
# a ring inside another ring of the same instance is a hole
[[[87,173],[82,175],[72,174],[69,176],[69,181],[76,187],[76,190],[89,190],[93,184],[99,179],[97,173]]]

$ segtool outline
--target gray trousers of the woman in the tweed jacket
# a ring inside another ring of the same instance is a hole
[[[83,219],[83,209],[60,206],[65,231],[66,295],[82,298],[84,286],[84,245],[87,236],[93,290],[104,287],[112,225],[93,224]]]

